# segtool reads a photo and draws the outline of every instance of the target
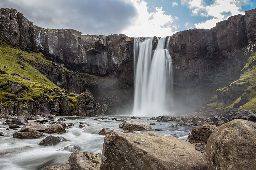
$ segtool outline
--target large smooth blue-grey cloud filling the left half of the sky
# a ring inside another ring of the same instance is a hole
[[[119,34],[138,12],[130,0],[1,0],[43,28],[72,28],[83,34]]]

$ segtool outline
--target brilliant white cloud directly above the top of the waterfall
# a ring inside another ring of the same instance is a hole
[[[165,37],[172,35],[179,28],[174,20],[178,19],[166,15],[162,7],[155,8],[155,12],[147,11],[147,3],[144,0],[131,0],[138,11],[135,22],[122,33],[132,37]]]

